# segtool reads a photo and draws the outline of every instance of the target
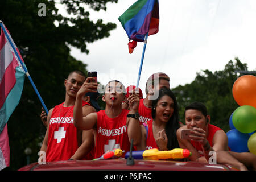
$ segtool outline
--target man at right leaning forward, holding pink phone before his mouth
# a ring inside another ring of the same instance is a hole
[[[185,107],[185,122],[186,125],[177,130],[177,139],[181,148],[192,152],[190,160],[209,163],[213,152],[216,152],[216,162],[219,164],[230,164],[240,170],[256,169],[254,154],[229,151],[226,133],[209,124],[210,115],[203,103],[192,102]],[[183,129],[192,129],[189,139],[181,138]]]

